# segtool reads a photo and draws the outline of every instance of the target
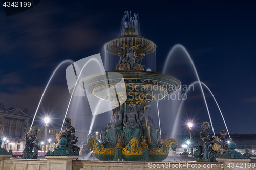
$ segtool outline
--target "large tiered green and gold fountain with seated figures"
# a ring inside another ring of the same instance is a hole
[[[105,45],[106,51],[120,57],[116,70],[79,80],[80,87],[87,92],[116,103],[111,123],[101,132],[103,143],[96,138],[87,140],[99,160],[162,161],[169,148],[177,147],[175,139],[161,141],[161,131],[150,115],[150,105],[144,103],[165,98],[178,90],[181,82],[172,76],[144,71],[142,60],[156,50],[156,44],[137,34],[134,19],[127,23],[123,35]],[[123,84],[119,84],[121,79]]]

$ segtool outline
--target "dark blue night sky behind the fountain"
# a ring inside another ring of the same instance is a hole
[[[77,61],[101,53],[105,42],[119,36],[124,11],[131,11],[139,15],[141,36],[157,44],[157,72],[163,71],[170,49],[183,45],[201,81],[214,93],[229,132],[255,133],[255,1],[111,2],[42,0],[9,17],[0,7],[0,103],[6,108],[27,107],[33,114],[55,67],[66,59]],[[37,119],[51,114],[60,125],[70,97],[65,76],[70,64],[64,64],[53,78]],[[196,81],[186,58],[169,64],[168,73],[182,84]],[[205,93],[218,134],[225,127],[214,100]],[[199,86],[185,103],[180,122],[193,119],[200,127],[209,120]]]

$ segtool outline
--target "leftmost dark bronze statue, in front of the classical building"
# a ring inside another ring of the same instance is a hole
[[[26,144],[22,153],[23,159],[37,159],[38,150],[41,149],[40,145],[38,144],[38,140],[35,140],[37,136],[37,132],[38,132],[38,128],[34,128],[32,133],[27,132],[25,134]],[[36,144],[33,143],[33,141],[35,141]],[[34,149],[34,152],[32,152],[33,149]]]

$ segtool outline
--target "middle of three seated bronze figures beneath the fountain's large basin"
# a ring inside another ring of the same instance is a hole
[[[125,145],[127,145],[133,137],[139,137],[140,131],[142,131],[142,126],[138,113],[134,110],[134,105],[134,103],[130,103],[128,105],[129,110],[124,112],[123,132]]]

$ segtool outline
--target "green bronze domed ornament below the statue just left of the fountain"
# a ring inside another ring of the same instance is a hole
[[[78,152],[71,151],[69,147],[66,147],[68,141],[65,137],[59,140],[60,148],[56,149],[53,152],[48,151],[46,156],[78,156]]]

